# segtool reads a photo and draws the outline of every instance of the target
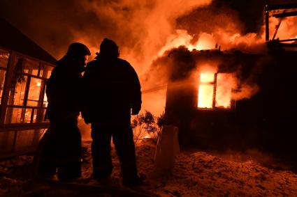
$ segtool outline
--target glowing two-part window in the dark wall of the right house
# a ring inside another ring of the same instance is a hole
[[[199,109],[231,109],[232,90],[236,86],[233,73],[203,72],[198,81]]]

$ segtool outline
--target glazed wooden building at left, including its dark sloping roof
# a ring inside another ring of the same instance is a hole
[[[47,106],[45,81],[56,59],[0,18],[0,157],[35,150]]]

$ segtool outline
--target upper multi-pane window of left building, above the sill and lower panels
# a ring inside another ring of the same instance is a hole
[[[45,81],[53,67],[17,56],[8,96],[5,124],[43,123],[47,100]]]

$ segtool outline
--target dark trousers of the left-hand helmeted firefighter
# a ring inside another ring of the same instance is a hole
[[[38,174],[72,180],[81,175],[81,136],[76,123],[52,124],[41,140]]]

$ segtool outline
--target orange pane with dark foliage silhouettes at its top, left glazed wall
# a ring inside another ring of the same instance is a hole
[[[15,85],[12,85],[13,88],[10,89],[8,104],[23,105],[27,76],[24,76],[22,81],[17,81],[17,79],[13,79],[13,81]]]

